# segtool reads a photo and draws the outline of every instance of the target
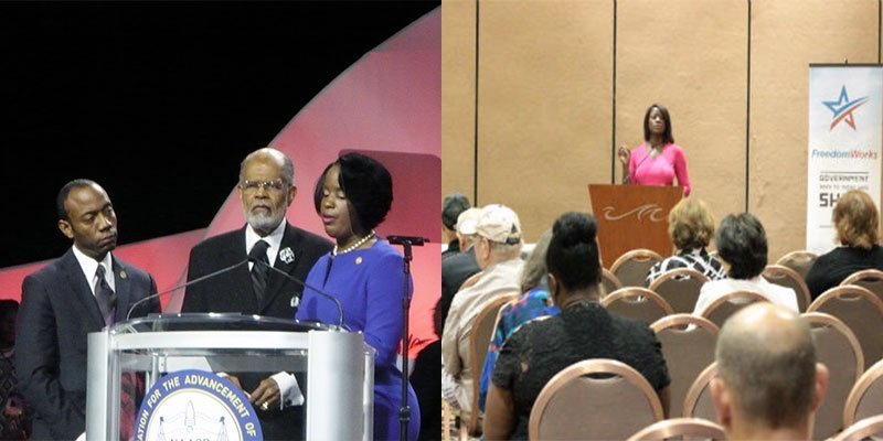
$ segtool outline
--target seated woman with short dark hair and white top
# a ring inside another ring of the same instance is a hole
[[[797,310],[797,294],[787,287],[764,279],[767,262],[766,232],[751,213],[727,215],[714,237],[717,255],[728,266],[727,278],[711,280],[702,286],[693,315],[702,315],[715,300],[734,291],[753,291],[769,300]]]

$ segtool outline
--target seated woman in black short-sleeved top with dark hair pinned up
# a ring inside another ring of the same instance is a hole
[[[671,379],[656,335],[598,304],[595,218],[567,213],[552,232],[545,262],[549,292],[561,313],[522,325],[500,348],[485,413],[488,440],[526,439],[531,409],[545,384],[565,367],[595,357],[618,359],[643,374],[668,415]]]

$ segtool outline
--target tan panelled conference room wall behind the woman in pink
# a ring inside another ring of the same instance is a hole
[[[535,240],[662,103],[693,195],[805,246],[807,66],[877,63],[881,0],[444,0],[443,195],[504,203]],[[615,51],[614,51],[615,47]],[[470,95],[471,94],[471,95]],[[609,265],[609,262],[606,262]]]

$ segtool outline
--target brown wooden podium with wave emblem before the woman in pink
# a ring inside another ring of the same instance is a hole
[[[683,187],[588,184],[592,213],[598,222],[598,244],[605,268],[626,251],[672,252],[669,212],[683,197]]]

